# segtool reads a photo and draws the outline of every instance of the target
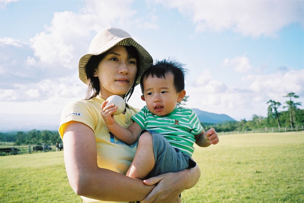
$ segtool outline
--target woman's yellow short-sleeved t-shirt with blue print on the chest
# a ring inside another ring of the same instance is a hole
[[[127,145],[109,132],[100,114],[100,106],[104,101],[100,96],[96,96],[91,100],[68,103],[60,116],[59,134],[62,138],[64,128],[66,127],[65,124],[69,121],[73,120],[85,123],[95,133],[98,167],[126,174],[135,155],[136,143]],[[133,123],[131,117],[138,111],[139,109],[133,107],[126,108],[125,114],[116,115],[114,119],[123,127],[128,127]],[[81,198],[83,202],[108,202],[86,197]]]

